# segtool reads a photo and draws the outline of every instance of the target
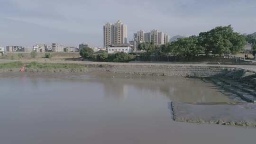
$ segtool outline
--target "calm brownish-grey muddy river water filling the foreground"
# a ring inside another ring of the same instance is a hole
[[[237,100],[183,77],[2,76],[0,144],[255,144],[255,128],[174,122],[169,108]]]

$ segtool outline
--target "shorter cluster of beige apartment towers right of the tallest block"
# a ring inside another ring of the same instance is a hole
[[[155,29],[148,33],[140,30],[134,34],[134,41],[138,43],[154,42],[155,45],[164,45],[170,41],[170,36]]]

